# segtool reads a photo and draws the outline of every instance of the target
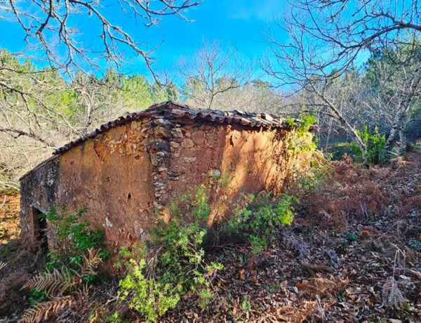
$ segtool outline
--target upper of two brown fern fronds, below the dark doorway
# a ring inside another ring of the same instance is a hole
[[[60,271],[57,269],[52,272],[47,270],[29,279],[22,289],[44,291],[48,298],[60,297],[65,291],[79,283],[80,277],[76,274],[66,267],[62,267]]]

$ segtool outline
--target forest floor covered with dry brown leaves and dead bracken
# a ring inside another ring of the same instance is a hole
[[[370,169],[332,167],[264,254],[250,258],[248,246],[236,245],[211,255],[224,265],[212,303],[201,308],[187,294],[161,321],[421,322],[421,152]],[[10,219],[4,228],[13,232]],[[0,322],[29,306],[20,287],[39,269],[10,239],[0,245]],[[133,322],[118,287],[118,279],[96,284],[58,322],[105,322],[117,309]]]

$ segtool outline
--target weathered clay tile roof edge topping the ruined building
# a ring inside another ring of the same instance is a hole
[[[192,119],[197,121],[206,121],[210,124],[241,124],[250,128],[288,128],[288,125],[283,121],[281,117],[276,117],[273,114],[265,113],[254,113],[254,112],[242,112],[238,110],[234,111],[219,111],[219,110],[208,110],[208,109],[191,109],[187,105],[168,101],[165,103],[159,103],[152,105],[142,112],[134,112],[126,114],[119,119],[109,121],[107,124],[102,124],[95,131],[88,133],[85,136],[81,136],[76,140],[58,148],[53,154],[61,154],[67,150],[83,143],[84,141],[95,138],[100,133],[104,133],[110,128],[127,124],[128,122],[140,120],[145,117],[156,117],[166,119]]]

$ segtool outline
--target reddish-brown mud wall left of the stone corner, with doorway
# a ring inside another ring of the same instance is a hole
[[[86,207],[84,218],[105,229],[106,242],[114,251],[119,244],[142,239],[147,225],[156,219],[150,129],[150,120],[112,128],[22,178],[22,238],[34,239],[36,210],[63,205],[69,213]],[[53,232],[48,235],[51,243]]]

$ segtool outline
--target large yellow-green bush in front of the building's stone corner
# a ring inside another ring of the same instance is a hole
[[[177,199],[170,212],[170,223],[151,228],[147,249],[121,250],[121,256],[128,258],[128,274],[119,283],[119,296],[149,322],[174,308],[188,292],[199,296],[202,307],[208,305],[214,295],[211,281],[222,270],[219,263],[205,259],[210,214],[207,187]]]

